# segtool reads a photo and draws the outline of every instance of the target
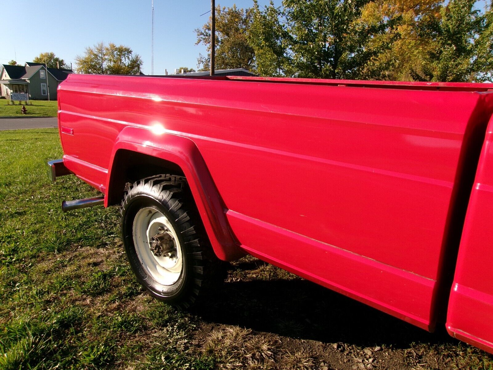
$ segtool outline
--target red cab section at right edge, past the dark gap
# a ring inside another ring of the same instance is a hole
[[[493,118],[481,152],[450,293],[447,330],[493,353]]]

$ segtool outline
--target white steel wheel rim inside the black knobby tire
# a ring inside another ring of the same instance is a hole
[[[149,239],[159,233],[159,227],[173,237],[175,250],[172,254],[155,256],[150,249]],[[145,272],[161,285],[175,284],[181,275],[183,254],[170,220],[155,208],[142,208],[135,215],[133,234],[135,251]]]

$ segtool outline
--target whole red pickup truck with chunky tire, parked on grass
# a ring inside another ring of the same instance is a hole
[[[250,254],[493,353],[493,84],[70,74],[63,159],[188,307]]]

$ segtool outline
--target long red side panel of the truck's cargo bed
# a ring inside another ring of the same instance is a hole
[[[225,215],[211,240],[227,227],[248,253],[432,330],[492,88],[73,74],[59,117],[73,129],[61,133],[67,167],[105,193],[124,128],[141,130],[129,148],[167,160],[160,148],[187,138],[212,182],[192,185],[201,214],[217,213],[203,198],[214,191]]]

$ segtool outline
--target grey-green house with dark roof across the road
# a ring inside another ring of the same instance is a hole
[[[0,94],[10,99],[11,93],[28,93],[32,100],[57,100],[57,88],[72,70],[50,68],[41,63],[27,62],[25,66],[0,67]]]

